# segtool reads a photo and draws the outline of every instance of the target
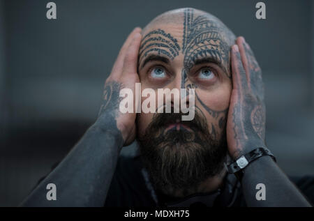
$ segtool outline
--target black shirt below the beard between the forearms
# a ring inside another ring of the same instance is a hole
[[[314,201],[313,176],[290,177],[290,180],[310,203]],[[246,206],[246,201],[234,174],[227,174],[223,186],[208,194],[177,199],[156,192],[135,150],[120,155],[105,206]]]

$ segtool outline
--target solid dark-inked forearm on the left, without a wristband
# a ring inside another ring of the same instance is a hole
[[[119,130],[108,129],[92,125],[22,206],[103,206],[123,145]],[[46,199],[48,183],[57,186],[55,201]]]

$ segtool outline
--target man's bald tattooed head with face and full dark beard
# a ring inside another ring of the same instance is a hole
[[[142,161],[155,188],[188,195],[223,170],[235,36],[218,18],[193,8],[159,15],[142,36],[142,90],[195,89],[193,121],[181,121],[181,113],[173,112],[137,116]]]

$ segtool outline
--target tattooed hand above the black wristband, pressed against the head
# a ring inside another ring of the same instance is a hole
[[[227,119],[227,144],[236,160],[254,148],[266,147],[262,71],[243,37],[232,46],[232,95]]]

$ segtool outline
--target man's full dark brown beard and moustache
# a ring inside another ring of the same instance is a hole
[[[217,139],[214,125],[195,112],[193,121],[181,121],[182,113],[156,114],[144,135],[137,136],[144,167],[156,190],[184,195],[197,190],[207,178],[219,174],[227,155],[225,123]],[[166,128],[172,123],[185,126]]]

